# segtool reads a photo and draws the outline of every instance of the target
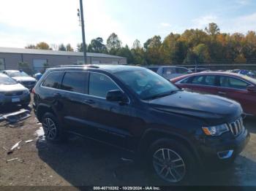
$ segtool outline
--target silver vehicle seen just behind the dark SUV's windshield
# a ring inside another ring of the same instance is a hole
[[[165,79],[173,79],[184,74],[192,73],[189,69],[179,66],[146,66],[146,68],[165,77]]]

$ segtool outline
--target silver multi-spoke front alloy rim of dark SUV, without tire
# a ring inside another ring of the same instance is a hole
[[[159,149],[154,152],[153,166],[157,175],[167,182],[180,182],[186,175],[184,160],[172,149]]]

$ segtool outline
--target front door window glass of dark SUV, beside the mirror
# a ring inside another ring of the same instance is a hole
[[[109,77],[98,73],[90,74],[89,95],[106,98],[110,90],[119,90],[119,88]]]

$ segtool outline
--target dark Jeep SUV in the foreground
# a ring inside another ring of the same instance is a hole
[[[249,141],[236,101],[180,90],[149,69],[48,69],[33,92],[48,140],[75,133],[124,148],[173,184],[206,163],[232,163]]]

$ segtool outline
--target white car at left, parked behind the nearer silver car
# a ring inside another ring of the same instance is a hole
[[[3,70],[3,74],[7,74],[12,79],[15,79],[18,83],[24,85],[29,90],[32,90],[34,85],[37,83],[37,79],[30,77],[29,74],[26,74],[24,71],[19,70]]]

